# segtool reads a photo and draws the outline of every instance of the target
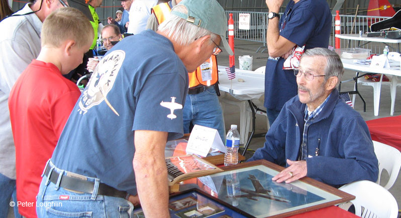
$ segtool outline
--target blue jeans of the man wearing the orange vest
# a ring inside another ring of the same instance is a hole
[[[223,143],[226,140],[224,117],[214,86],[204,92],[186,95],[183,109],[184,133],[189,133],[189,124],[217,129]]]

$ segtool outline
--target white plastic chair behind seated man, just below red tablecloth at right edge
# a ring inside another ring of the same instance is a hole
[[[399,168],[401,168],[401,152],[398,149],[383,144],[378,141],[373,141],[374,153],[379,160],[379,176],[376,183],[380,184],[380,175],[383,169],[388,172],[389,179],[383,186],[385,189],[390,189],[397,179]]]

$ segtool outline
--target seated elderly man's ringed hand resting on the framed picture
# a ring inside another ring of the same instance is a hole
[[[306,160],[292,161],[287,159],[287,163],[289,166],[271,178],[273,181],[285,181],[285,183],[289,183],[307,176],[308,168]]]

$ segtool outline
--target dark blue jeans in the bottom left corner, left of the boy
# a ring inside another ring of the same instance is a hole
[[[0,173],[0,218],[7,218],[10,207],[10,199],[13,198],[15,202],[14,205],[14,215],[16,218],[22,217],[18,213],[17,206],[17,189],[16,180],[11,179],[2,173]]]

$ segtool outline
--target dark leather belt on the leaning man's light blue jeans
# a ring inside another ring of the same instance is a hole
[[[48,177],[51,167],[47,164],[45,175]],[[50,181],[57,184],[59,173],[55,170],[52,171],[50,175]],[[94,182],[82,180],[79,178],[74,178],[67,175],[62,175],[60,180],[60,187],[85,193],[93,193]],[[112,197],[127,197],[127,192],[117,190],[116,188],[109,186],[105,183],[99,183],[99,188],[97,189],[97,194],[107,195]]]

